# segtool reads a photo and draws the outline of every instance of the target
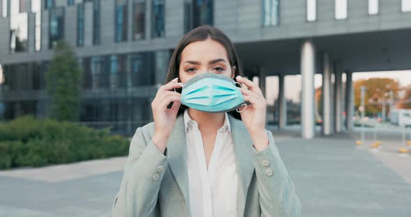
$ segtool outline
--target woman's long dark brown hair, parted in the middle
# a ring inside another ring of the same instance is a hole
[[[226,49],[227,58],[228,58],[228,62],[231,65],[231,69],[235,67],[234,80],[235,80],[235,77],[237,77],[238,75],[242,76],[242,74],[240,74],[240,67],[238,65],[237,53],[235,52],[235,49],[234,49],[234,46],[231,40],[227,37],[227,35],[225,35],[219,29],[213,26],[203,25],[203,26],[197,27],[196,29],[193,29],[192,31],[189,31],[189,33],[184,35],[184,37],[180,40],[180,42],[178,42],[178,45],[176,49],[174,49],[173,55],[171,56],[169,70],[167,72],[167,77],[166,77],[166,83],[169,83],[171,80],[175,79],[176,77],[178,77],[180,80],[178,72],[180,68],[181,52],[183,52],[185,47],[187,47],[187,45],[193,42],[208,40],[208,38],[210,38],[211,40],[215,40],[216,42],[219,42]],[[181,93],[180,88],[177,91]],[[178,111],[178,114],[183,113],[185,109],[187,109],[187,106],[181,105]],[[236,111],[230,111],[228,113],[231,114],[234,118],[241,119],[240,114]]]

